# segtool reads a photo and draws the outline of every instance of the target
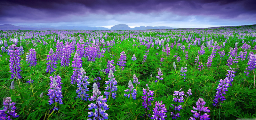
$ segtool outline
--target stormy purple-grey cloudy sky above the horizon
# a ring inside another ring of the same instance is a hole
[[[0,25],[169,26],[256,24],[256,0],[1,0]]]

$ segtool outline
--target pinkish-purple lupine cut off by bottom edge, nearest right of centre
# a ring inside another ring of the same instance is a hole
[[[167,109],[165,108],[165,105],[163,104],[163,101],[159,103],[159,101],[156,102],[155,108],[153,108],[153,117],[151,117],[152,120],[165,120],[164,118],[167,117],[165,116]]]

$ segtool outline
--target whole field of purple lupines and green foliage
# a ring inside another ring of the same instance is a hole
[[[0,38],[0,120],[256,118],[255,25]]]

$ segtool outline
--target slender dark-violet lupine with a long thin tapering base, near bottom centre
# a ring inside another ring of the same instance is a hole
[[[143,108],[146,108],[146,112],[143,115],[143,116],[145,116],[145,120],[146,120],[146,117],[147,117],[147,112],[149,110],[149,106],[151,106],[151,101],[154,100],[153,99],[154,97],[150,97],[150,96],[154,95],[154,91],[149,90],[148,84],[146,84],[146,86],[147,86],[147,89],[144,89],[144,88],[142,89],[142,91],[143,91],[142,94],[145,95],[145,96],[141,96],[142,99],[144,99],[144,101],[142,102],[142,106],[144,106]]]

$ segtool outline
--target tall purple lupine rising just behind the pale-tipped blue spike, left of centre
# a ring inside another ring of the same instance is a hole
[[[82,67],[82,59],[79,57],[79,55],[77,53],[75,53],[75,56],[73,58],[74,61],[72,61],[72,65],[71,67],[73,68],[73,75],[71,76],[71,84],[76,84],[78,83],[77,79],[78,79],[78,75],[80,74],[80,68]]]

